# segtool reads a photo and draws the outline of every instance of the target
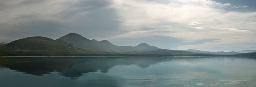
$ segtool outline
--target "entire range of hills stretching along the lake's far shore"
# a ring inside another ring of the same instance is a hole
[[[247,52],[247,51],[242,51]],[[59,39],[34,36],[12,41],[7,44],[0,43],[0,55],[12,56],[87,56],[87,55],[173,55],[173,56],[253,56],[252,53],[238,52],[211,52],[188,49],[167,50],[141,43],[137,46],[117,46],[107,40],[89,40],[79,34],[69,33]]]

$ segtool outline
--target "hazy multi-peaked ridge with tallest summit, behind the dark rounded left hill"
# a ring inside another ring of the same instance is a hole
[[[108,52],[128,52],[128,51],[143,51],[143,50],[155,50],[159,49],[155,46],[150,46],[146,43],[139,44],[138,46],[117,46],[110,43],[107,40],[97,41],[89,40],[79,34],[69,33],[68,35],[62,36],[56,39],[58,43],[68,44],[72,43],[77,48],[82,48],[92,51],[108,51]]]

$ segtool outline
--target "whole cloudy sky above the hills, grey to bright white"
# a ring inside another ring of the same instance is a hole
[[[1,0],[0,42],[77,33],[115,45],[256,49],[255,0]]]

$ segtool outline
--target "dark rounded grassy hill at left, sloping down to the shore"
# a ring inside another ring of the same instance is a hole
[[[0,46],[0,55],[82,55],[107,54],[108,52],[89,51],[60,44],[47,37],[35,36],[12,41]]]

